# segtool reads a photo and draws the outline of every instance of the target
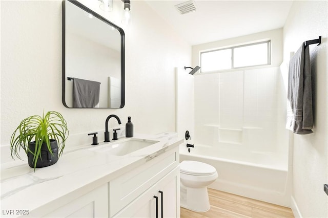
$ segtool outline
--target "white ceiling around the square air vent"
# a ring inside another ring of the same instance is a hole
[[[281,28],[292,5],[292,1],[194,0],[197,10],[181,15],[175,5],[187,0],[146,2],[191,45]]]

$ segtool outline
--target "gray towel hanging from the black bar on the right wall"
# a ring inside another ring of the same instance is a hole
[[[313,128],[309,46],[302,46],[289,62],[286,128],[296,134],[310,134]]]

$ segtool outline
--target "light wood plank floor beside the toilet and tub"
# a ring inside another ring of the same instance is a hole
[[[294,217],[291,208],[209,188],[211,209],[198,213],[181,207],[182,217]]]

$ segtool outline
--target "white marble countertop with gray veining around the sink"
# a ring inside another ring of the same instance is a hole
[[[54,207],[70,202],[183,142],[174,133],[135,134],[133,138],[158,142],[125,156],[113,156],[93,148],[118,143],[126,138],[95,146],[82,145],[65,151],[56,164],[37,168],[35,172],[27,161],[2,164],[2,211],[29,210],[45,214],[43,208],[50,203]]]

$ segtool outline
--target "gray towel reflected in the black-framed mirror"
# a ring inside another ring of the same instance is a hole
[[[100,82],[73,78],[73,107],[95,107],[99,91]]]

